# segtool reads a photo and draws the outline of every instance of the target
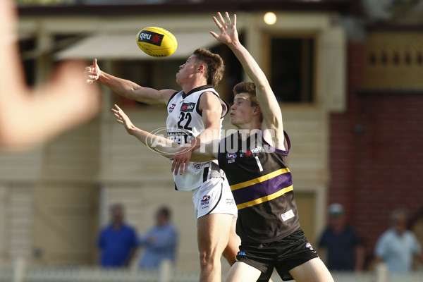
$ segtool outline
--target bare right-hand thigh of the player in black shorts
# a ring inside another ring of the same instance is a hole
[[[294,267],[289,273],[297,282],[333,282],[331,273],[319,257]]]

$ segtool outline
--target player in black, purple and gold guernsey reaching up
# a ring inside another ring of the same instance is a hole
[[[219,160],[238,207],[236,231],[242,242],[226,281],[256,281],[261,274],[270,277],[275,268],[283,281],[331,282],[329,270],[300,228],[287,166],[290,142],[274,92],[255,59],[240,44],[236,16],[231,20],[228,13],[226,18],[218,13],[214,22],[220,34],[212,35],[233,51],[254,82],[234,87],[231,123],[238,133],[203,144],[191,157]],[[166,157],[178,152],[180,145],[136,128],[118,106],[114,114],[128,133],[145,145]]]

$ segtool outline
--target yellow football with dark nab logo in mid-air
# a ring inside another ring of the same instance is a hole
[[[175,36],[161,27],[145,27],[137,34],[137,45],[145,54],[153,57],[171,56],[178,42]]]

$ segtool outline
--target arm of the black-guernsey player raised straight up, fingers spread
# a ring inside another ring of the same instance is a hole
[[[252,82],[256,85],[257,99],[262,109],[264,120],[262,123],[262,130],[264,138],[269,141],[273,140],[274,146],[278,149],[283,149],[283,123],[282,113],[278,101],[271,90],[269,80],[259,67],[258,63],[251,56],[250,52],[245,49],[243,44],[240,43],[238,38],[238,31],[236,30],[236,15],[233,15],[233,20],[225,13],[226,18],[223,19],[221,13],[217,13],[213,17],[214,23],[219,27],[220,35],[216,32],[210,32],[219,42],[226,44],[233,54],[238,58],[243,65],[244,71],[251,78]],[[271,136],[268,130],[274,131],[274,136]]]

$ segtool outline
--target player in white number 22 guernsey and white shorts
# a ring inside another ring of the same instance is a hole
[[[220,173],[219,166],[211,162],[189,161],[192,150],[200,147],[201,142],[212,139],[212,136],[203,134],[204,130],[220,133],[221,118],[228,106],[213,87],[221,80],[223,69],[223,60],[219,55],[207,49],[195,50],[176,73],[176,82],[182,91],[155,90],[116,78],[101,71],[97,59],[85,69],[88,83],[98,81],[125,98],[166,106],[168,133],[178,134],[179,130],[182,135],[188,133],[192,136],[192,140],[185,140],[185,146],[173,157],[172,170],[180,167],[180,172],[176,171],[174,176],[176,189],[193,192],[200,250],[200,281],[221,281],[222,253],[232,264],[240,245],[235,233],[237,210],[224,173]]]

